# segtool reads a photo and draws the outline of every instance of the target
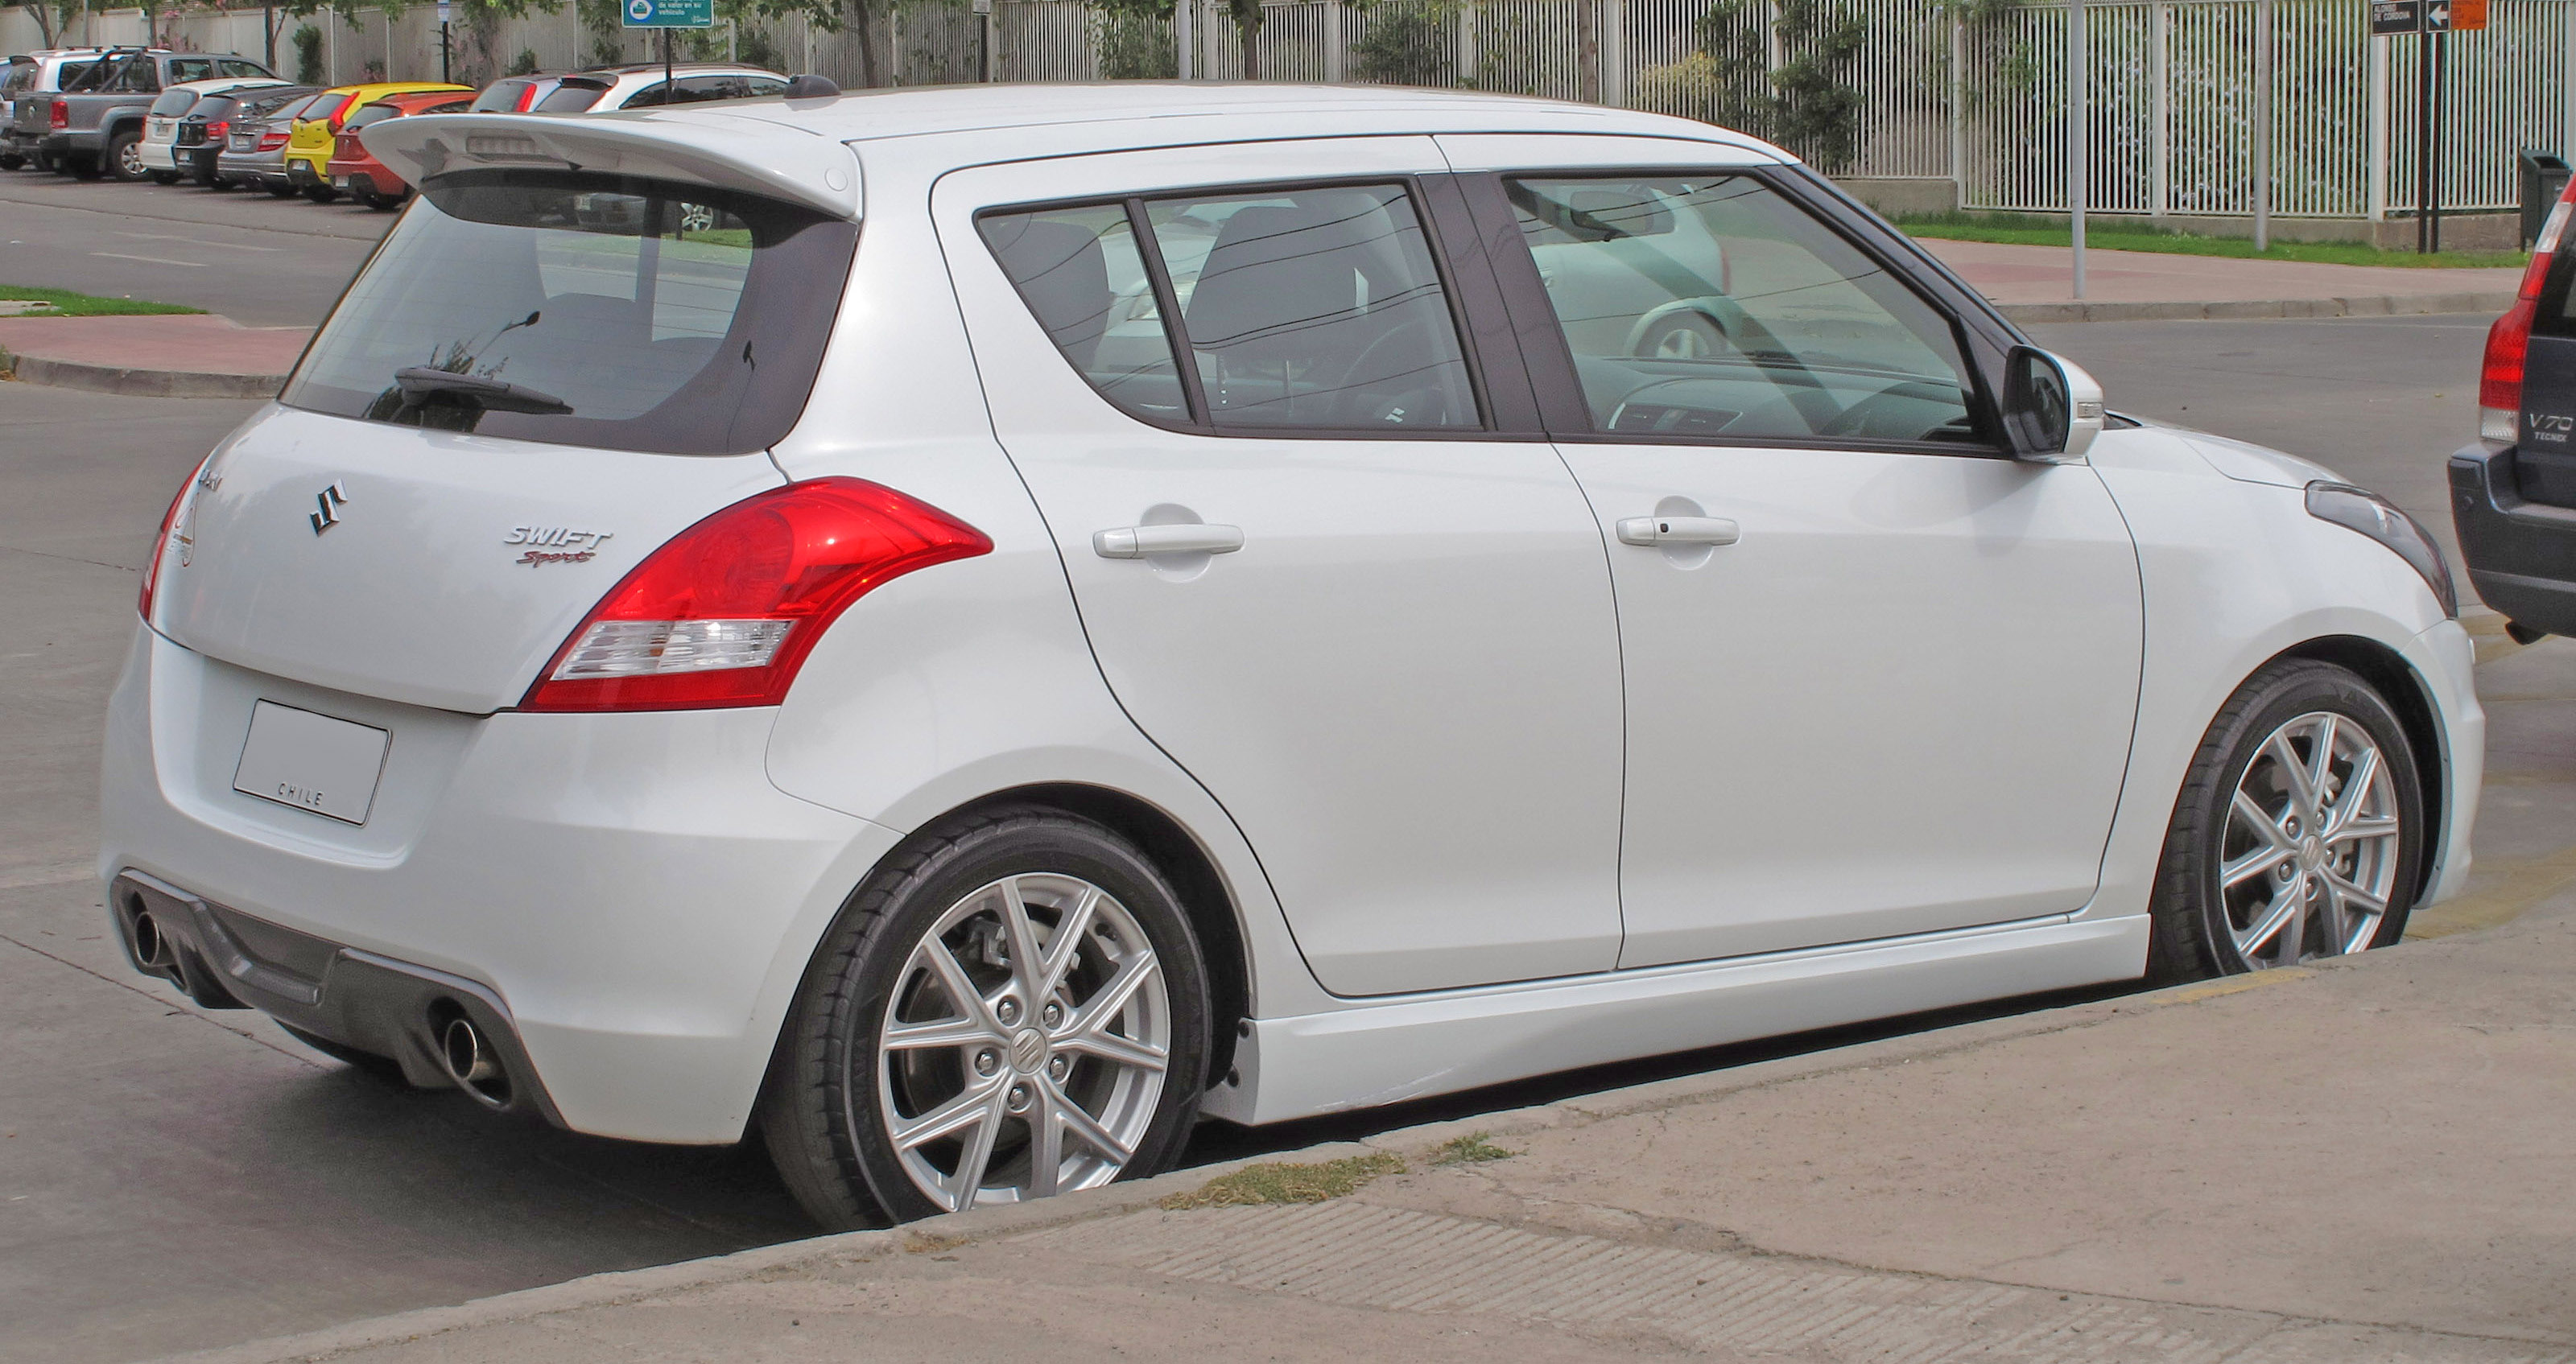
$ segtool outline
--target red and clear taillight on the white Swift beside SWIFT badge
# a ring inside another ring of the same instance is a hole
[[[554,651],[520,708],[778,705],[850,602],[979,553],[992,553],[981,530],[860,479],[747,497],[636,564]]]

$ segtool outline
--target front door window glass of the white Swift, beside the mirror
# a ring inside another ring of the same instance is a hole
[[[1744,175],[1510,180],[1592,430],[1978,440],[1947,319]]]

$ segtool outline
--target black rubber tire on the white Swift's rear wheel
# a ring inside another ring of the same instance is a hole
[[[1141,926],[1162,968],[1170,1050],[1151,1120],[1115,1179],[1162,1174],[1188,1143],[1211,1042],[1208,975],[1180,896],[1136,844],[1110,829],[1048,808],[984,811],[925,831],[850,896],[781,1029],[760,1096],[760,1132],[788,1192],[819,1225],[848,1230],[948,1212],[904,1174],[884,1130],[876,1037],[889,996],[904,983],[912,950],[930,926],[1010,875],[1087,880]],[[1072,1071],[1066,1089],[1082,1076]],[[1028,1081],[1038,1076],[1028,1073]]]

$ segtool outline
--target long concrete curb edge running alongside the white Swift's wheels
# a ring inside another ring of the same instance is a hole
[[[2321,965],[2331,970],[2342,963],[2331,965],[2321,963]],[[796,1269],[811,1264],[853,1264],[891,1253],[945,1251],[966,1240],[987,1240],[994,1235],[1059,1228],[1069,1222],[1090,1222],[1100,1217],[1118,1217],[1123,1212],[1139,1212],[1170,1194],[1193,1192],[1208,1179],[1265,1161],[1293,1161],[1293,1163],[1340,1161],[1345,1156],[1365,1156],[1373,1150],[1425,1156],[1435,1145],[1455,1140],[1468,1132],[1484,1132],[1489,1138],[1512,1138],[1520,1132],[1538,1132],[1548,1127],[1582,1127],[1589,1122],[1605,1122],[1638,1112],[1680,1109],[1690,1104],[1716,1101],[1747,1089],[1770,1089],[1777,1083],[1790,1083],[1811,1076],[1829,1076],[1839,1071],[1904,1065],[1960,1050],[2012,1042],[2017,1037],[2094,1027],[2120,1014],[2138,1014],[2146,1009],[2164,1009],[2177,1004],[2197,1004],[2205,999],[2218,999],[2262,986],[2290,986],[2295,981],[2308,981],[2316,973],[2318,968],[2264,970],[2257,975],[2200,981],[2192,986],[2146,991],[2146,993],[2120,996],[2112,1001],[2071,1004],[2063,1009],[2043,1009],[2038,1014],[2014,1014],[2004,1019],[1981,1019],[1973,1024],[1914,1032],[1855,1047],[1832,1047],[1806,1055],[1762,1060],[1754,1065],[1708,1071],[1700,1076],[1654,1081],[1633,1089],[1584,1094],[1577,1099],[1561,1099],[1553,1104],[1538,1104],[1528,1109],[1507,1109],[1450,1122],[1427,1122],[1419,1127],[1381,1132],[1363,1143],[1327,1143],[1327,1145],[1311,1145],[1306,1150],[1285,1150],[1273,1156],[1252,1156],[1244,1161],[1195,1166],[1154,1179],[1110,1184],[1108,1189],[1087,1189],[1079,1194],[1064,1194],[1056,1199],[1023,1207],[979,1207],[971,1212],[951,1212],[945,1217],[904,1222],[889,1230],[819,1235],[811,1240],[791,1240],[783,1246],[734,1251],[729,1256],[708,1256],[698,1261],[665,1264],[652,1269],[629,1269],[613,1274],[590,1274],[562,1284],[505,1292],[495,1297],[477,1297],[471,1302],[459,1302],[451,1307],[417,1307],[410,1313],[330,1325],[299,1336],[278,1336],[268,1341],[247,1341],[240,1346],[219,1346],[198,1354],[178,1354],[167,1356],[160,1364],[309,1364],[319,1359],[345,1356],[361,1349],[446,1336],[451,1331],[471,1331],[482,1325],[531,1320],[587,1307],[616,1307],[621,1302],[641,1302],[657,1295],[672,1295],[683,1289],[732,1284],[778,1269]]]

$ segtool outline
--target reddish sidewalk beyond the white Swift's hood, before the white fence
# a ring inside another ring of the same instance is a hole
[[[1919,239],[2014,322],[2138,322],[2174,317],[2385,317],[2504,311],[2522,270],[2411,270],[2221,255],[2084,252],[2084,301],[2074,299],[2074,250]]]

